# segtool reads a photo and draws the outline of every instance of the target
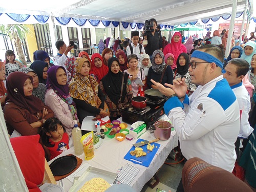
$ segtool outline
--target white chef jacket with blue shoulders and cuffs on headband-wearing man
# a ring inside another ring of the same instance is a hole
[[[184,111],[182,107],[184,106]],[[186,159],[199,157],[232,172],[240,115],[236,96],[223,76],[199,86],[183,103],[168,99],[164,111],[173,122]]]

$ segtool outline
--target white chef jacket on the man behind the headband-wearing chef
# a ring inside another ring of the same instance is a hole
[[[240,110],[240,131],[238,137],[248,138],[253,131],[253,128],[248,122],[249,112],[251,109],[249,93],[242,82],[231,86],[231,89],[237,97]]]

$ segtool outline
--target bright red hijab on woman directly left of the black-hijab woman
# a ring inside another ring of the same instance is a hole
[[[102,66],[100,68],[97,68],[95,65],[94,65],[94,59],[95,58],[99,58],[102,62]],[[108,66],[105,66],[104,65],[104,62],[103,62],[103,58],[101,57],[101,55],[99,53],[94,53],[92,55],[92,68],[90,70],[90,74],[94,74],[97,76],[98,78],[98,82],[101,81],[101,79],[109,72],[109,68]]]

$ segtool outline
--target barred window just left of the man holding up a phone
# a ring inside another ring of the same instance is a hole
[[[53,56],[49,25],[34,24],[34,30],[37,49],[44,50],[49,54],[49,56]]]

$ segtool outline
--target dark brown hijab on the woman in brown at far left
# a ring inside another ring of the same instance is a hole
[[[31,114],[41,111],[41,100],[34,95],[24,95],[24,83],[30,78],[33,84],[33,78],[26,73],[15,71],[12,72],[6,81],[8,101],[13,102],[20,108],[28,110]]]

